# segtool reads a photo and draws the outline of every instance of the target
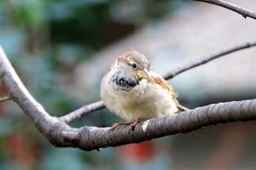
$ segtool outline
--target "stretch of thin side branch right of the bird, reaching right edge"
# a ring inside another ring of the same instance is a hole
[[[241,45],[227,48],[227,49],[220,51],[219,53],[216,53],[214,55],[209,55],[209,56],[205,56],[205,57],[199,58],[194,61],[190,61],[188,64],[182,64],[180,67],[177,67],[176,69],[172,70],[172,72],[167,72],[166,74],[164,74],[163,77],[164,77],[164,79],[172,79],[172,77],[175,77],[176,75],[180,74],[181,72],[188,71],[188,70],[195,68],[202,64],[207,64],[208,62],[210,62],[216,58],[219,58],[221,56],[229,55],[236,51],[239,51],[239,50],[242,50],[245,48],[249,48],[249,47],[255,47],[255,46],[256,46],[256,41],[252,41],[252,42],[247,42],[247,43],[244,43]]]

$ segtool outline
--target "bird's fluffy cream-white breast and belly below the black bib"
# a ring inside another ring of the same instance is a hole
[[[111,86],[109,75],[102,80],[101,97],[105,105],[125,120],[150,119],[171,115],[178,111],[171,94],[158,84],[146,80],[129,91],[117,91]]]

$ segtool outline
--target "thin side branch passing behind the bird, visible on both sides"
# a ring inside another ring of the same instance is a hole
[[[256,47],[256,41],[247,42],[247,43],[240,44],[240,45],[237,45],[234,47],[230,47],[230,48],[220,51],[219,53],[216,53],[214,55],[201,57],[197,60],[190,61],[188,64],[182,64],[181,66],[172,70],[172,72],[167,72],[166,74],[164,74],[163,78],[164,79],[172,79],[173,77],[175,77],[176,75],[178,75],[182,72],[186,72],[186,71],[188,71],[192,68],[195,68],[199,65],[202,65],[202,64],[207,64],[208,62],[210,62],[218,57],[228,55],[228,54],[231,54],[236,51],[239,51],[239,50],[242,50],[245,48],[249,48],[249,47]],[[71,123],[71,122],[75,121],[75,119],[79,119],[80,117],[82,117],[84,115],[88,115],[88,114],[92,113],[93,111],[99,110],[102,108],[104,108],[104,104],[103,104],[103,101],[100,100],[95,103],[92,103],[92,104],[89,104],[86,106],[82,106],[81,108],[78,108],[74,112],[60,117],[60,120],[64,121],[65,123]]]

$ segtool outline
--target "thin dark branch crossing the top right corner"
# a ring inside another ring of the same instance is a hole
[[[256,20],[256,13],[254,13],[250,10],[244,9],[240,6],[237,6],[235,4],[231,4],[231,3],[228,3],[228,2],[225,2],[225,1],[222,1],[222,0],[195,0],[195,1],[204,2],[204,3],[208,3],[208,4],[216,4],[218,6],[221,6],[221,7],[224,7],[226,9],[232,10],[235,13],[240,13],[240,14],[243,15],[244,18],[250,17],[250,18]]]

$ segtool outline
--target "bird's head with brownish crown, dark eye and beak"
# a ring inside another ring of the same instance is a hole
[[[137,51],[128,51],[120,55],[116,60],[115,66],[126,78],[148,79],[150,64],[146,60],[146,56]]]

